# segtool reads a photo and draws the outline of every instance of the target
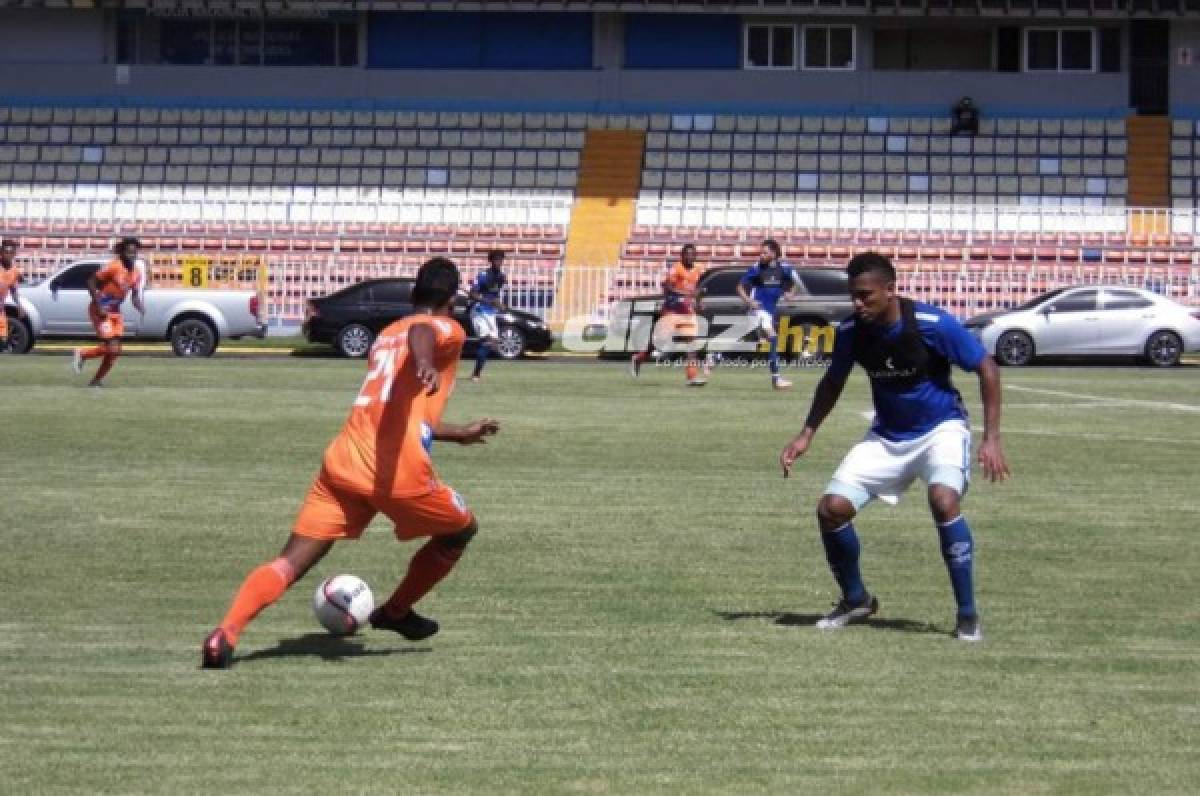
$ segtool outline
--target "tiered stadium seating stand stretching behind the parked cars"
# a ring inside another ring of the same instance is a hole
[[[515,304],[552,313],[582,150],[604,130],[644,132],[644,156],[618,262],[570,282],[600,317],[656,289],[683,243],[718,265],[766,237],[798,265],[877,249],[960,313],[1102,277],[1198,300],[1195,219],[1124,207],[1112,119],[984,120],[971,137],[908,116],[5,107],[0,209],[34,277],[137,232],[158,255],[260,258],[288,324],[343,285],[432,255],[474,273],[502,249]],[[1172,132],[1186,209],[1196,126]]]

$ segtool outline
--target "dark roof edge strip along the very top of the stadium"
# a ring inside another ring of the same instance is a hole
[[[0,0],[0,7],[127,8],[188,17],[325,16],[347,11],[643,11],[1079,19],[1200,14],[1200,0]]]

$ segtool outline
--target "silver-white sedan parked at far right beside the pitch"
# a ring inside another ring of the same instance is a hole
[[[1003,365],[1034,357],[1138,355],[1165,367],[1200,351],[1200,310],[1121,286],[1058,288],[970,318],[966,327]]]

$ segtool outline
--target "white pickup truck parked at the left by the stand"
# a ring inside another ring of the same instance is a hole
[[[12,352],[26,353],[42,337],[91,337],[88,279],[103,264],[101,259],[82,259],[47,280],[19,286],[25,318],[17,317],[16,307],[4,307]],[[266,336],[254,291],[161,288],[151,283],[143,300],[145,315],[130,299],[121,306],[125,337],[166,340],[176,357],[210,357],[226,337]]]

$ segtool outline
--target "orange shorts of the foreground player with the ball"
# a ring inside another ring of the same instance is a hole
[[[310,539],[358,539],[376,514],[396,525],[401,540],[458,533],[473,519],[462,496],[445,484],[427,495],[380,498],[338,486],[322,467],[292,532]]]

